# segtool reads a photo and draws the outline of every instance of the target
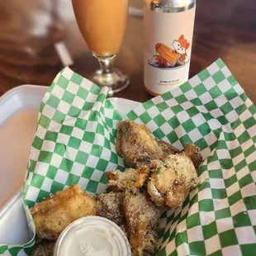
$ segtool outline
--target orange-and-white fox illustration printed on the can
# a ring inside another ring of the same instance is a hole
[[[178,40],[173,40],[173,49],[158,43],[155,45],[156,55],[149,60],[149,64],[155,68],[171,69],[183,66],[189,60],[187,50],[190,43],[185,39],[184,35],[179,36]]]

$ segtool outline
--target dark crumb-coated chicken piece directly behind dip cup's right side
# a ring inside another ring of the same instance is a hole
[[[109,192],[98,195],[97,216],[102,216],[119,225],[126,232],[126,218],[122,209],[123,192]]]

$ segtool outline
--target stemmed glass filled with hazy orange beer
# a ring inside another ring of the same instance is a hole
[[[112,64],[125,36],[128,0],[72,0],[72,3],[79,30],[100,64],[92,80],[98,86],[107,86],[112,96],[130,83]]]

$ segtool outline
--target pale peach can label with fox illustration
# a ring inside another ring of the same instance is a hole
[[[163,94],[187,81],[195,12],[196,6],[167,13],[145,7],[144,84],[150,94]]]

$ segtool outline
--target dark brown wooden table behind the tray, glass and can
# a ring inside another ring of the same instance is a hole
[[[142,2],[130,0],[140,6]],[[75,72],[88,77],[98,67],[78,31],[70,0],[1,0],[0,31],[0,95],[25,83],[50,85],[62,69],[57,41],[68,46]],[[256,103],[255,0],[197,0],[190,75],[218,58]],[[148,100],[143,87],[143,19],[129,17],[116,66],[130,76],[130,87],[116,97]]]

